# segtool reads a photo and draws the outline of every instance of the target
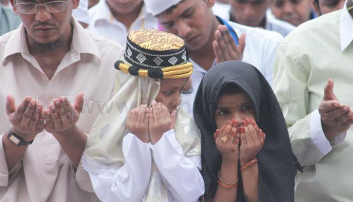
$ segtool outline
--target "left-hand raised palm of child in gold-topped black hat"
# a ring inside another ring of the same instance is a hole
[[[147,105],[141,105],[129,112],[126,122],[129,131],[145,143],[150,141],[148,134],[148,115],[149,109]]]

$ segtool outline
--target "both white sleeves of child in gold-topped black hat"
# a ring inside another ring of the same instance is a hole
[[[168,189],[169,202],[197,201],[205,191],[199,172],[201,168],[197,167],[201,165],[201,159],[189,159],[183,155],[174,130],[164,133],[154,145],[128,133],[123,139],[123,153],[126,162],[115,174],[89,173],[93,188],[103,202],[147,201],[146,192],[150,183],[163,183]],[[156,168],[152,168],[152,161]],[[150,182],[150,176],[156,174],[157,180]]]

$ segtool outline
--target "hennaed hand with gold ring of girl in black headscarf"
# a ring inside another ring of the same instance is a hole
[[[238,164],[240,134],[239,131],[237,131],[237,127],[237,121],[227,121],[214,133],[214,140],[216,142],[217,149],[222,154],[223,162]]]

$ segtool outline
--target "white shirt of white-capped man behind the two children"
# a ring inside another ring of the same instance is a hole
[[[274,56],[283,37],[276,32],[248,27],[229,21],[228,23],[237,33],[238,37],[240,37],[242,33],[246,33],[242,61],[259,69],[267,81],[272,84]],[[193,62],[192,59],[191,62],[194,64],[194,72],[191,75],[193,92],[182,94],[181,107],[193,116],[193,104],[196,92],[206,71],[197,63]]]

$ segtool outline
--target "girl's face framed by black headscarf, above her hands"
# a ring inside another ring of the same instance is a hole
[[[254,104],[246,93],[223,94],[218,98],[214,114],[217,128],[221,128],[228,120],[242,123],[246,118],[256,120]]]

